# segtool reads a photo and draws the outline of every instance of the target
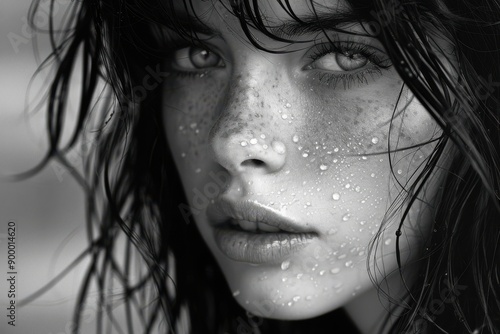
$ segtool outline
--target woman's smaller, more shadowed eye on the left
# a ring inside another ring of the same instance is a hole
[[[169,57],[168,67],[177,74],[200,74],[214,68],[224,68],[220,55],[208,47],[185,46],[176,49]]]

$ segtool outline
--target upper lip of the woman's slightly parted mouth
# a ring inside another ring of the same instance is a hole
[[[264,223],[290,233],[308,233],[292,219],[287,218],[257,201],[230,201],[219,198],[207,208],[207,216],[213,225],[220,225],[230,219]]]

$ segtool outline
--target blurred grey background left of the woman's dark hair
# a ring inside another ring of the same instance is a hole
[[[56,1],[54,12],[58,17],[63,16],[69,3]],[[37,22],[48,28],[49,1],[42,4],[46,14],[42,9]],[[34,167],[47,149],[44,108],[36,110],[36,106],[47,88],[48,71],[33,75],[40,64],[34,50],[44,59],[50,44],[46,34],[28,27],[29,6],[29,0],[0,1],[0,333],[70,333],[85,263],[29,305],[16,307],[15,327],[8,325],[7,318],[9,221],[16,224],[16,303],[49,283],[85,247],[83,192],[61,165],[53,162],[19,182],[7,178]],[[78,83],[72,88],[77,91]],[[66,120],[69,127],[72,116],[74,113]],[[77,151],[70,155],[76,165],[79,158]],[[92,317],[85,320],[81,333],[93,333]]]

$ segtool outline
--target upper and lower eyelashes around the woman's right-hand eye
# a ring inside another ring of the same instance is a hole
[[[329,73],[325,71],[315,71],[312,79],[317,80],[321,85],[328,86],[333,89],[335,89],[339,83],[343,84],[344,89],[349,89],[356,83],[358,85],[368,84],[367,76],[370,76],[371,79],[374,80],[375,76],[382,75],[383,69],[389,69],[392,66],[389,58],[382,59],[374,48],[354,41],[332,41],[330,43],[317,44],[316,49],[308,56],[308,59],[310,60],[310,63],[314,63],[321,57],[331,53],[360,54],[372,64],[372,66],[365,67],[361,70],[355,70],[353,72]]]

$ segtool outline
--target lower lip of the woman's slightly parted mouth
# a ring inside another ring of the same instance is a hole
[[[281,262],[317,239],[315,233],[252,233],[229,225],[216,227],[214,235],[227,257],[255,264]]]

